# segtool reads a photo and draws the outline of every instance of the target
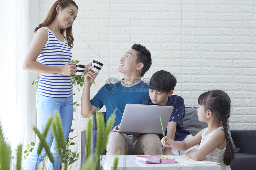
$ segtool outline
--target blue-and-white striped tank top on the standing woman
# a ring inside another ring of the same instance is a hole
[[[63,66],[71,61],[72,53],[68,41],[60,42],[52,32],[48,31],[48,41],[38,56],[38,61],[49,66]],[[41,29],[41,28],[40,28]],[[72,95],[71,76],[62,74],[41,74],[37,93],[48,97],[69,97]]]

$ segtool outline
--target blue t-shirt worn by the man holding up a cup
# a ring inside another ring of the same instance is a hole
[[[102,86],[90,101],[95,107],[102,108],[105,105],[106,122],[117,108],[114,127],[120,124],[126,104],[141,104],[147,98],[149,98],[149,85],[143,80],[129,86],[118,81]]]

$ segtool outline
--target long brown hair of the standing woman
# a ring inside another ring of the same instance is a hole
[[[57,11],[56,11],[57,5],[60,5],[61,9],[69,7],[70,5],[74,5],[78,9],[78,6],[75,3],[75,1],[72,1],[72,0],[58,0],[58,1],[56,1],[52,5],[52,7],[51,7],[50,11],[48,12],[48,14],[47,14],[45,20],[43,21],[43,23],[39,24],[38,27],[35,28],[34,32],[36,32],[39,28],[41,28],[43,26],[48,26],[50,23],[52,23],[52,21],[55,19],[56,14],[57,14]],[[68,46],[70,48],[73,48],[74,37],[73,37],[73,34],[72,34],[72,26],[70,26],[66,29],[60,29],[60,33],[62,35],[64,35],[65,32],[66,32],[65,37],[68,40]]]

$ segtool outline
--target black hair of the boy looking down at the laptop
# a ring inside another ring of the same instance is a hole
[[[149,80],[149,88],[165,93],[174,90],[177,80],[170,72],[160,70],[155,72]]]

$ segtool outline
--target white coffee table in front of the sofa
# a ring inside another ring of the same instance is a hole
[[[117,169],[122,170],[221,170],[221,166],[216,164],[205,165],[182,165],[180,163],[151,163],[146,164],[135,161],[136,155],[119,155]],[[115,155],[102,155],[101,165],[104,170],[112,170]],[[171,168],[170,168],[171,167]]]

